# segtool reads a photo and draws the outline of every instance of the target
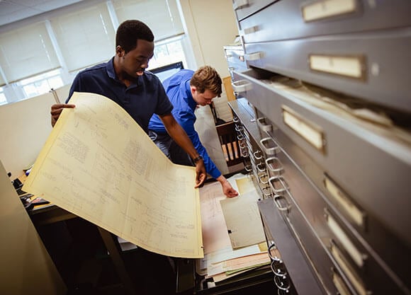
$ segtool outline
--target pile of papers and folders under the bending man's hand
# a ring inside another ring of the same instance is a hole
[[[196,270],[214,283],[270,264],[252,179],[237,174],[229,181],[237,197],[225,197],[220,183],[200,191],[204,258]]]

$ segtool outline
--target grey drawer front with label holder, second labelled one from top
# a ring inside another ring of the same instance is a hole
[[[410,112],[411,29],[396,32],[252,43],[245,56],[249,66]]]

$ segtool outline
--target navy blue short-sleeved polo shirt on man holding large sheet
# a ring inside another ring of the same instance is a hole
[[[173,105],[157,76],[145,71],[135,79],[135,83],[126,87],[117,79],[113,61],[114,58],[79,72],[70,88],[69,98],[74,91],[106,96],[118,103],[148,133],[148,122],[152,115],[169,114]],[[69,103],[69,98],[66,103]]]

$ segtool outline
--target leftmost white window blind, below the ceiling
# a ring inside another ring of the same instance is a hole
[[[45,23],[1,33],[0,64],[9,83],[60,67]]]

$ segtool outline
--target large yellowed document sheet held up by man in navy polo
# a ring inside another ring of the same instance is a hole
[[[171,163],[112,100],[74,93],[23,190],[155,253],[202,258],[193,167]]]

